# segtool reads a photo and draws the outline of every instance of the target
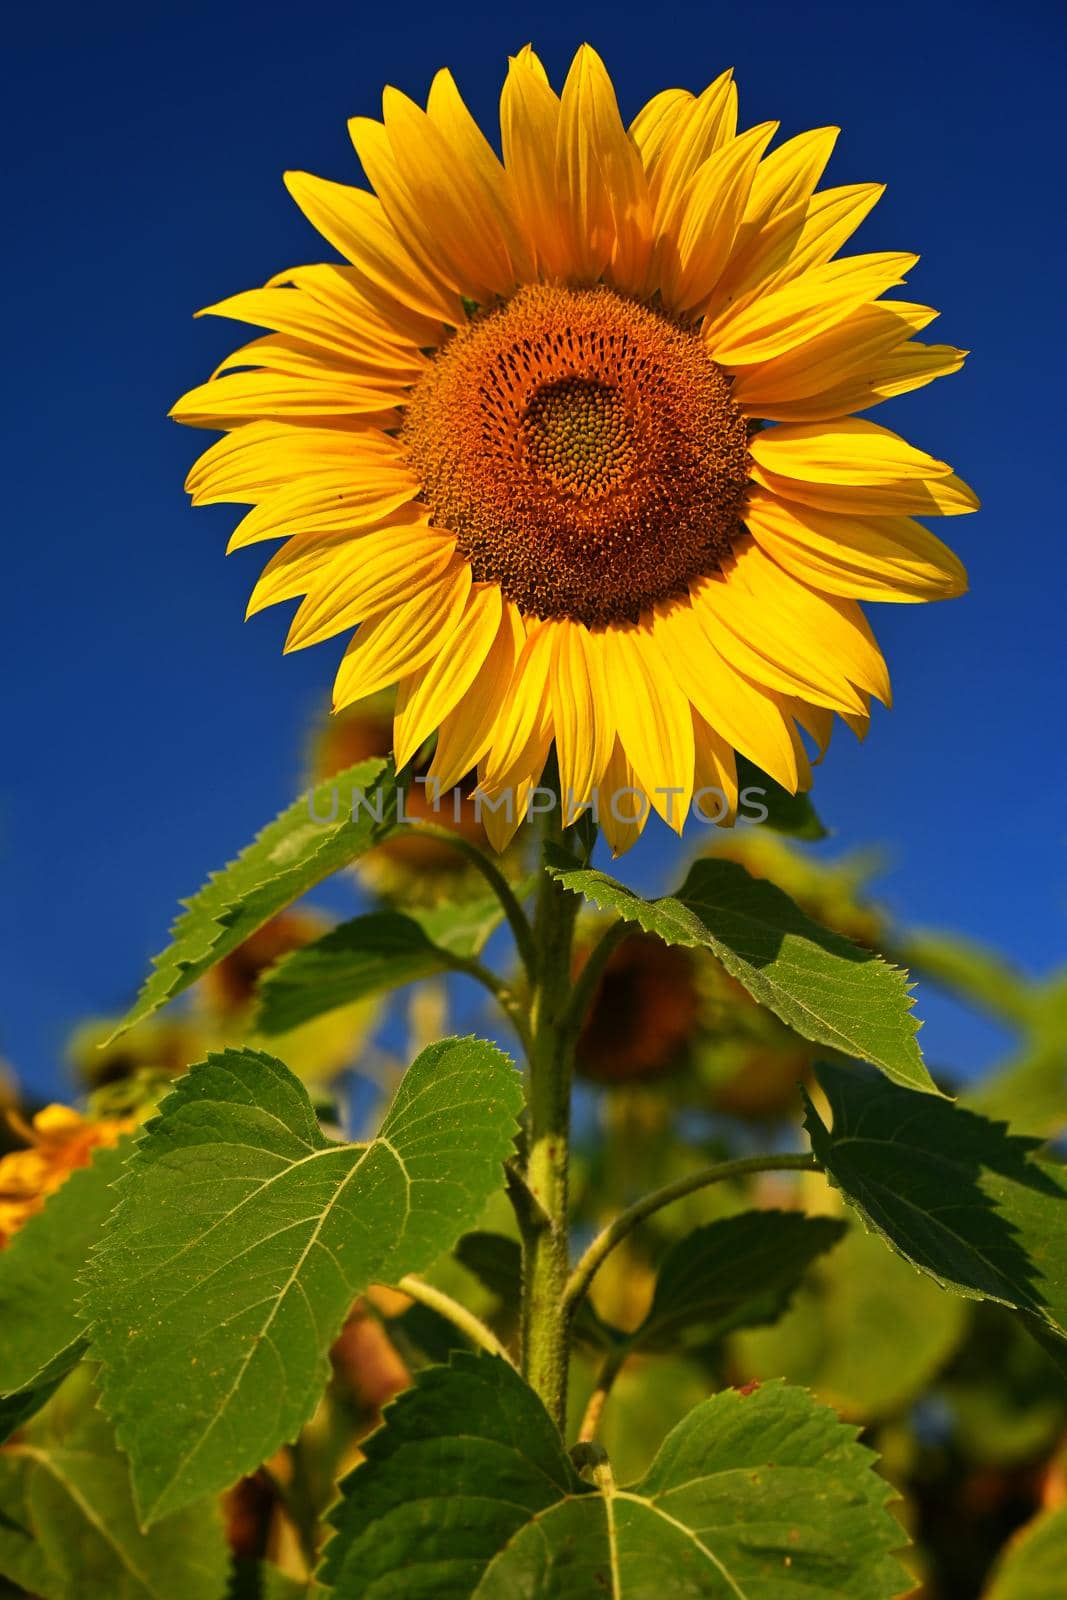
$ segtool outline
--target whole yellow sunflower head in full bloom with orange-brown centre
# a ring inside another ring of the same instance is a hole
[[[346,264],[211,306],[269,331],[173,413],[226,430],[189,490],[251,506],[230,549],[285,539],[250,614],[355,629],[334,706],[397,685],[397,760],[435,733],[498,848],[552,746],[616,851],[701,790],[728,818],[734,752],[808,787],[801,730],[889,701],[857,602],[960,594],[915,518],[977,506],[853,414],[966,354],[883,298],[915,256],[837,256],[881,186],[817,187],[835,128],[737,133],[729,72],[627,130],[587,45],[560,94],[510,61],[502,160],[446,70],[349,126],[373,192],[286,176]]]

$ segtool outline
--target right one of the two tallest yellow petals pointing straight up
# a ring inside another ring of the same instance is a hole
[[[571,272],[587,283],[606,274],[616,288],[640,288],[651,253],[648,184],[608,70],[589,45],[579,46],[563,85],[557,184]]]

